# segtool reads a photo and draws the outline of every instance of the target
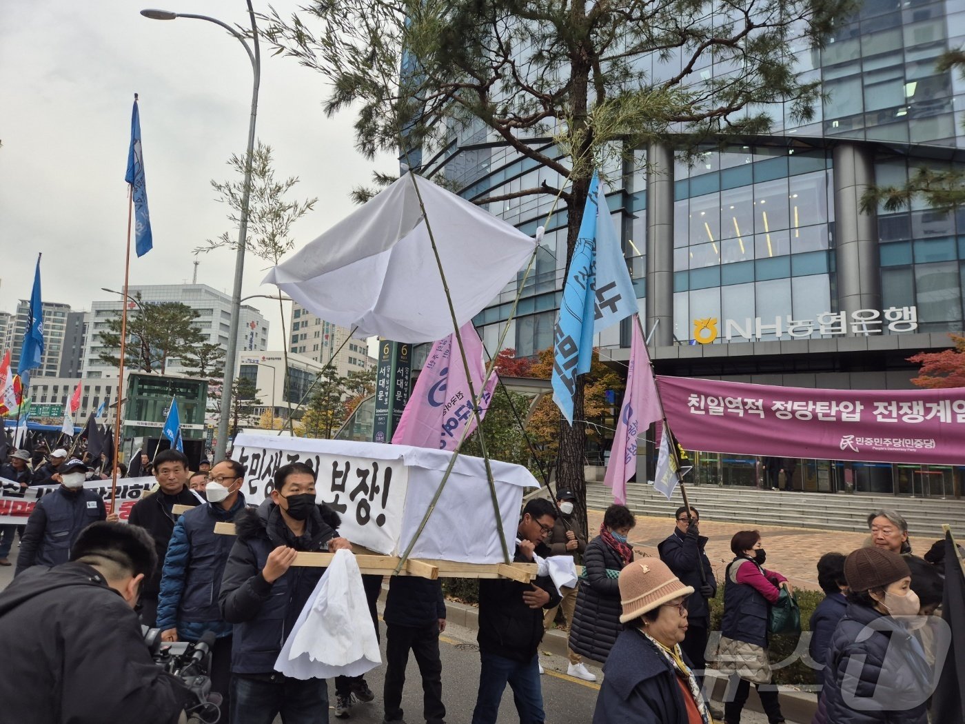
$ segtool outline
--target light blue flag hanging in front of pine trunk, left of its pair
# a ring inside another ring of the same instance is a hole
[[[569,273],[563,286],[563,302],[553,331],[553,402],[573,424],[573,393],[576,377],[590,372],[593,360],[596,265],[596,194],[599,179],[593,174],[583,221],[576,238]]]

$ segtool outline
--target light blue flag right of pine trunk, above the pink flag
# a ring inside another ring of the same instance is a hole
[[[596,214],[596,285],[593,290],[596,306],[593,334],[599,334],[638,312],[637,294],[633,290],[630,272],[626,269],[626,260],[620,248],[620,237],[602,189],[599,202]]]

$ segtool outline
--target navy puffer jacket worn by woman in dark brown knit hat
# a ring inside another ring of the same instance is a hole
[[[848,603],[825,661],[821,698],[828,722],[927,722],[925,700],[933,677],[924,650],[891,616]]]

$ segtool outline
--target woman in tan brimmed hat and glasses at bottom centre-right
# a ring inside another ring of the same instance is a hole
[[[694,589],[656,558],[627,565],[619,584],[626,626],[603,667],[593,724],[713,724],[679,646]]]

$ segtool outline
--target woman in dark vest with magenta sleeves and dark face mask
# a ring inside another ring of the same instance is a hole
[[[740,712],[753,683],[769,724],[785,720],[778,692],[761,689],[771,682],[767,657],[767,620],[769,606],[777,603],[781,589],[794,593],[787,579],[777,571],[764,568],[764,546],[756,530],[737,531],[731,538],[734,559],[728,564],[724,584],[724,618],[718,668],[731,675],[725,697],[724,720],[740,724]]]

